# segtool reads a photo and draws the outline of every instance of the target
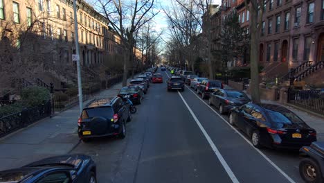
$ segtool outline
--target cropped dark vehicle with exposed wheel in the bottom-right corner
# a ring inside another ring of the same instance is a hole
[[[299,150],[300,177],[307,183],[324,182],[324,142],[313,142]]]

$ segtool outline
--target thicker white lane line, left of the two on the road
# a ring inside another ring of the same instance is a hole
[[[204,129],[204,127],[201,125],[201,123],[199,122],[199,120],[197,119],[197,116],[194,114],[194,112],[192,112],[191,108],[189,107],[188,103],[185,101],[185,99],[183,98],[183,96],[181,95],[181,93],[178,91],[179,96],[181,97],[183,103],[186,105],[186,107],[188,108],[191,116],[193,117],[193,119],[195,119],[197,125],[199,126],[201,132],[203,132],[204,136],[206,137],[210,147],[213,149],[215,155],[217,156],[219,162],[222,164],[222,166],[224,167],[226,173],[228,174],[228,176],[231,178],[232,182],[239,182],[237,180],[237,178],[235,177],[233,171],[231,170],[231,168],[228,166],[228,164],[226,163],[224,157],[222,156],[221,153],[219,153],[218,148],[215,146],[215,143],[213,143],[212,139],[210,139],[208,133],[206,132],[206,130]]]

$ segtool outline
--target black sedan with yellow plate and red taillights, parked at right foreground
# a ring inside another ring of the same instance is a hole
[[[316,131],[280,105],[248,103],[235,107],[229,123],[249,135],[255,148],[299,149],[316,141]]]

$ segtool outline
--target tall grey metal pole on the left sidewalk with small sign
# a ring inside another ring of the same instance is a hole
[[[81,68],[80,68],[80,51],[79,51],[79,34],[78,34],[78,17],[76,10],[76,0],[73,0],[73,12],[74,12],[74,31],[75,31],[75,51],[78,55],[77,62],[77,71],[78,71],[78,92],[79,92],[79,107],[80,114],[83,110],[83,97],[82,97],[82,82],[81,82]]]

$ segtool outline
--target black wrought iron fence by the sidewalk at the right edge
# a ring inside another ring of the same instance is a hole
[[[288,103],[303,107],[318,114],[324,114],[324,91],[316,90],[288,90]]]

